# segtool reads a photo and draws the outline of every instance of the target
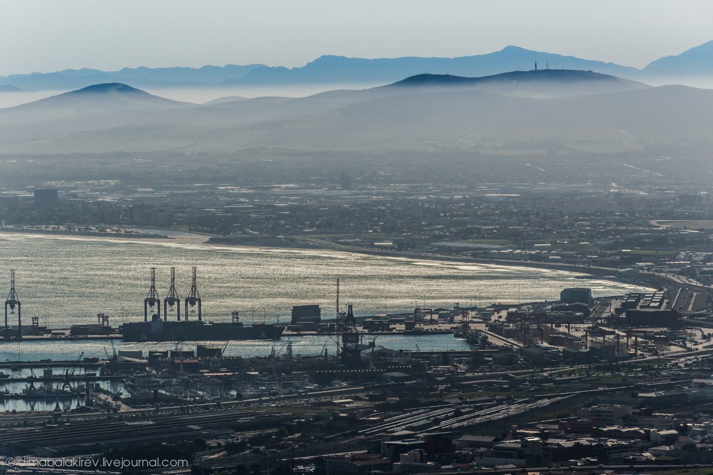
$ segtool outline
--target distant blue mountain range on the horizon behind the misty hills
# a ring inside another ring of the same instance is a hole
[[[485,76],[508,71],[539,69],[595,71],[620,78],[657,81],[700,77],[713,73],[713,41],[666,56],[643,69],[591,61],[543,51],[507,46],[493,53],[460,58],[347,58],[321,56],[299,68],[203,66],[202,68],[123,68],[119,71],[68,69],[55,73],[14,74],[0,77],[0,85],[24,90],[68,90],[97,83],[125,83],[135,88],[220,87],[256,85],[374,85],[391,83],[421,73]],[[1,90],[0,90],[1,92]]]

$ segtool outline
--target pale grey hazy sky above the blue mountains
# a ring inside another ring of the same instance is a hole
[[[713,39],[709,0],[0,0],[0,75],[468,56],[508,44],[645,66]]]

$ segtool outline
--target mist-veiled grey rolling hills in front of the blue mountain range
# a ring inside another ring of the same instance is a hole
[[[110,83],[2,109],[0,125],[4,155],[704,150],[713,145],[713,90],[543,70],[198,105]]]

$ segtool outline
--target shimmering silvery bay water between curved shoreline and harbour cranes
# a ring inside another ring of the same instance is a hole
[[[480,303],[517,303],[558,298],[565,287],[587,286],[595,296],[618,295],[630,286],[577,273],[538,268],[454,263],[368,256],[340,251],[260,249],[201,244],[196,239],[125,240],[107,237],[0,233],[0,292],[9,291],[9,269],[24,323],[68,328],[96,323],[143,320],[143,298],[157,267],[157,287],[165,296],[169,268],[176,268],[180,296],[190,289],[198,267],[204,316],[230,321],[231,310],[252,320],[285,322],[292,306],[317,303],[322,315],[335,313],[336,281],[341,302],[356,315],[411,311]],[[189,314],[195,318],[194,314]]]

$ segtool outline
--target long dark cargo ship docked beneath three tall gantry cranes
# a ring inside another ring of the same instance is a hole
[[[119,327],[122,340],[128,342],[279,340],[283,331],[284,326],[273,323],[243,325],[235,321],[212,323],[204,320],[165,321],[160,318],[153,318],[150,322],[124,323]]]

